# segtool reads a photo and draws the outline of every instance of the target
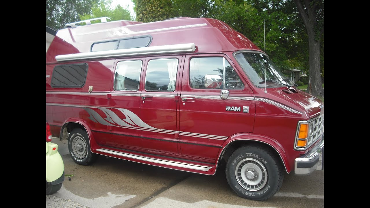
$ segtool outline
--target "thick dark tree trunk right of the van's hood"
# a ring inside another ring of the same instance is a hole
[[[305,23],[308,35],[310,67],[307,92],[314,96],[323,96],[324,89],[322,87],[320,68],[320,41],[323,41],[321,36],[324,32],[324,0],[295,1],[297,9]]]

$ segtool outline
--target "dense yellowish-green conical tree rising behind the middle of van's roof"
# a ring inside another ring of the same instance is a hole
[[[172,0],[133,0],[136,21],[154,22],[174,17]]]

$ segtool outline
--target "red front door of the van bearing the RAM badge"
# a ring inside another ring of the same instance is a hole
[[[208,87],[205,77],[225,76],[229,97],[220,98],[220,80]],[[186,56],[179,105],[181,154],[214,161],[223,142],[233,134],[252,132],[255,101],[252,89],[227,56]]]

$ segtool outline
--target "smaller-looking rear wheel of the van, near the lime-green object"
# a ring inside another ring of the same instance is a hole
[[[98,155],[90,150],[90,142],[86,131],[80,128],[71,131],[68,138],[68,150],[73,161],[80,165],[90,165],[98,158]]]

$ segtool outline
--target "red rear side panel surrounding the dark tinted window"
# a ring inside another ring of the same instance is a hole
[[[51,78],[47,78],[47,121],[52,125],[53,135],[59,135],[60,127],[72,118],[78,118],[84,122],[93,131],[98,144],[105,144],[110,140],[110,135],[106,134],[107,125],[102,125],[92,117],[86,110],[87,108],[95,109],[102,118],[107,115],[101,110],[108,108],[109,100],[107,94],[110,93],[112,66],[114,60],[87,61],[75,63],[60,64],[78,64],[87,63],[87,75],[85,84],[82,87],[51,87]],[[55,66],[60,64],[47,65],[47,75],[52,74]],[[93,91],[88,92],[89,86]],[[94,130],[98,130],[96,132]]]

